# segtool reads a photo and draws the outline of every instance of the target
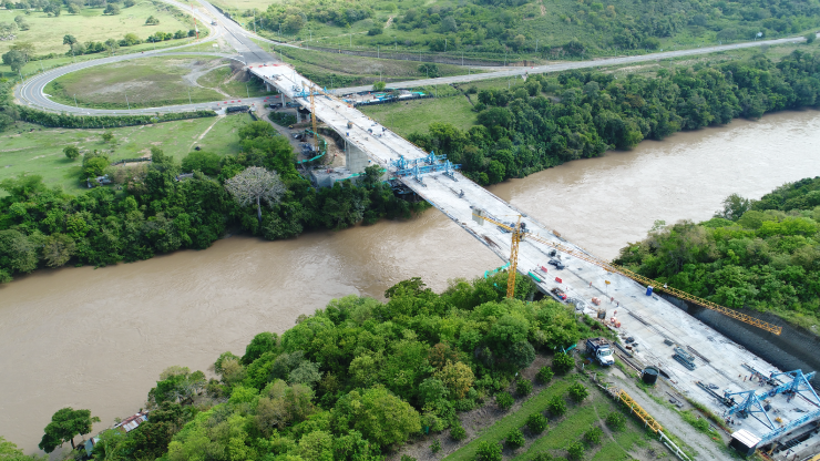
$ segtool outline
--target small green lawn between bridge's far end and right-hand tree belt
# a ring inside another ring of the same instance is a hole
[[[469,130],[475,123],[475,112],[463,95],[359,106],[359,110],[402,136],[427,133],[434,122],[451,123],[461,130]]]

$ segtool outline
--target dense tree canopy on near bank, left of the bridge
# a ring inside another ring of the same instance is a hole
[[[148,393],[148,421],[104,432],[94,457],[377,461],[412,434],[459,427],[459,411],[508,389],[532,362],[509,360],[514,345],[550,351],[540,334],[574,320],[553,300],[505,299],[505,279],[455,280],[435,294],[414,278],[386,303],[332,300],[281,337],[257,335],[242,358],[219,356],[219,379],[207,385],[199,371],[171,367]],[[516,287],[516,297],[532,290],[523,278]],[[562,325],[562,346],[592,335],[583,322]]]

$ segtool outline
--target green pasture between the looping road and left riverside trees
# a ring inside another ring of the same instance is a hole
[[[45,184],[61,185],[69,193],[78,193],[83,189],[78,176],[82,161],[68,160],[62,153],[66,145],[76,145],[81,152],[105,151],[112,162],[142,156],[153,145],[177,161],[195,144],[219,155],[236,154],[239,152],[238,129],[248,122],[249,115],[239,114],[127,126],[110,130],[114,134],[113,143],[102,141],[103,130],[52,130],[18,123],[0,136],[0,180],[38,174],[43,176]]]

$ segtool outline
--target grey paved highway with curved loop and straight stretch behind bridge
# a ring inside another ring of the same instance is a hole
[[[183,11],[191,11],[191,9],[180,3],[175,0],[162,0],[168,4],[172,4],[174,7],[180,8]],[[168,54],[206,54],[206,55],[219,55],[224,58],[235,59],[239,60],[246,65],[254,65],[258,63],[270,63],[276,62],[276,58],[270,55],[268,52],[266,52],[262,47],[259,47],[254,40],[252,40],[252,37],[258,41],[276,44],[279,47],[294,47],[291,44],[284,44],[279,42],[275,42],[273,40],[264,39],[262,37],[258,37],[256,34],[253,34],[249,31],[246,31],[239,24],[235,23],[234,21],[225,18],[222,13],[219,13],[216,8],[214,8],[213,4],[208,3],[205,0],[197,0],[201,4],[201,8],[204,10],[196,9],[194,10],[194,14],[196,16],[199,21],[202,21],[203,24],[205,24],[208,29],[211,29],[211,33],[206,39],[204,39],[202,42],[212,42],[216,39],[224,39],[230,47],[233,47],[239,55],[232,55],[232,54],[224,54],[224,53],[199,53],[195,51],[191,52],[184,52],[181,50],[184,50],[186,47],[192,47],[189,44],[187,45],[181,45],[158,51],[145,51],[142,53],[133,53],[133,54],[122,54],[111,58],[104,58],[104,59],[96,59],[92,61],[85,61],[85,62],[79,62],[71,65],[65,65],[62,68],[57,68],[53,70],[50,70],[45,73],[38,74],[28,81],[23,82],[23,84],[17,86],[14,89],[14,96],[18,101],[18,103],[28,105],[31,107],[37,107],[44,111],[50,112],[65,112],[65,113],[73,113],[73,114],[82,114],[82,115],[132,115],[132,114],[145,114],[145,113],[156,113],[156,112],[186,112],[186,111],[195,111],[201,109],[214,109],[218,106],[225,106],[226,103],[230,104],[230,100],[223,100],[223,101],[214,101],[212,103],[198,103],[198,104],[180,104],[180,105],[167,105],[162,107],[145,107],[145,109],[134,109],[134,110],[102,110],[102,109],[85,109],[85,107],[75,107],[71,105],[60,104],[57,102],[53,102],[44,94],[45,85],[49,84],[54,79],[58,79],[62,75],[65,75],[71,72],[75,72],[82,69],[92,68],[95,65],[103,65],[109,64],[112,62],[120,62],[131,59],[141,59],[141,58],[148,58],[148,57],[155,57],[155,55],[168,55]],[[217,20],[217,25],[212,25],[212,19]],[[752,47],[759,47],[762,44],[782,44],[782,43],[797,43],[804,41],[806,39],[802,37],[796,37],[796,38],[788,38],[788,39],[777,39],[777,40],[761,40],[756,42],[745,42],[745,43],[735,43],[735,44],[725,44],[725,45],[718,45],[718,47],[707,47],[707,48],[695,48],[689,50],[677,50],[677,51],[665,51],[659,53],[652,53],[652,54],[643,54],[643,55],[636,55],[636,57],[623,57],[623,58],[608,58],[608,59],[601,59],[601,60],[592,60],[592,61],[576,61],[576,62],[562,62],[558,64],[547,64],[547,65],[536,65],[531,68],[505,68],[501,71],[496,72],[485,72],[485,73],[478,73],[478,74],[471,74],[471,75],[455,75],[455,76],[444,76],[439,79],[423,79],[423,80],[412,80],[407,82],[394,82],[390,83],[389,88],[396,88],[396,89],[402,89],[402,88],[418,88],[422,85],[435,85],[435,84],[450,84],[450,83],[469,83],[474,82],[479,80],[488,80],[488,79],[500,79],[500,78],[510,78],[510,76],[520,76],[524,74],[531,74],[531,73],[545,73],[545,72],[558,72],[558,71],[565,71],[571,69],[588,69],[588,68],[598,68],[598,66],[607,66],[607,65],[622,65],[622,64],[633,64],[633,63],[639,63],[639,62],[648,62],[648,61],[657,61],[662,59],[669,59],[669,58],[680,58],[680,57],[689,57],[689,55],[698,55],[698,54],[708,54],[708,53],[715,53],[718,51],[727,51],[727,50],[738,50],[744,48],[752,48]],[[201,43],[202,43],[201,42]],[[168,51],[174,51],[172,53],[168,53]],[[372,89],[371,85],[366,86],[350,86],[350,88],[344,88],[344,89],[335,89],[336,94],[345,94],[345,93],[351,93],[357,91],[367,91]],[[233,100],[235,104],[247,104],[247,103],[263,103],[264,98],[254,98],[254,99],[243,99],[243,100]],[[242,101],[242,102],[238,102]]]

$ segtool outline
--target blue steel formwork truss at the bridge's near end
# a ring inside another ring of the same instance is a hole
[[[759,375],[763,377],[762,373]],[[725,392],[724,397],[727,399],[740,396],[740,398],[736,399],[739,401],[739,403],[726,410],[725,416],[735,413],[744,418],[751,416],[763,423],[767,428],[771,429],[771,432],[762,437],[762,441],[758,444],[758,447],[760,447],[766,442],[771,441],[775,438],[820,417],[820,397],[818,397],[817,392],[814,392],[814,389],[809,383],[809,380],[813,377],[814,371],[808,375],[803,375],[802,370],[787,371],[777,375],[770,373],[768,382],[779,382],[779,385],[775,386],[766,392],[757,393],[757,391],[755,390],[746,390],[742,392]],[[788,381],[781,381],[782,378],[787,378]],[[786,396],[789,396],[790,398],[800,395],[818,409],[789,422],[783,427],[778,428],[769,418],[769,414],[767,413],[766,407],[762,402],[766,399],[775,397],[779,393],[783,393]],[[766,420],[758,417],[759,413],[762,413]]]

